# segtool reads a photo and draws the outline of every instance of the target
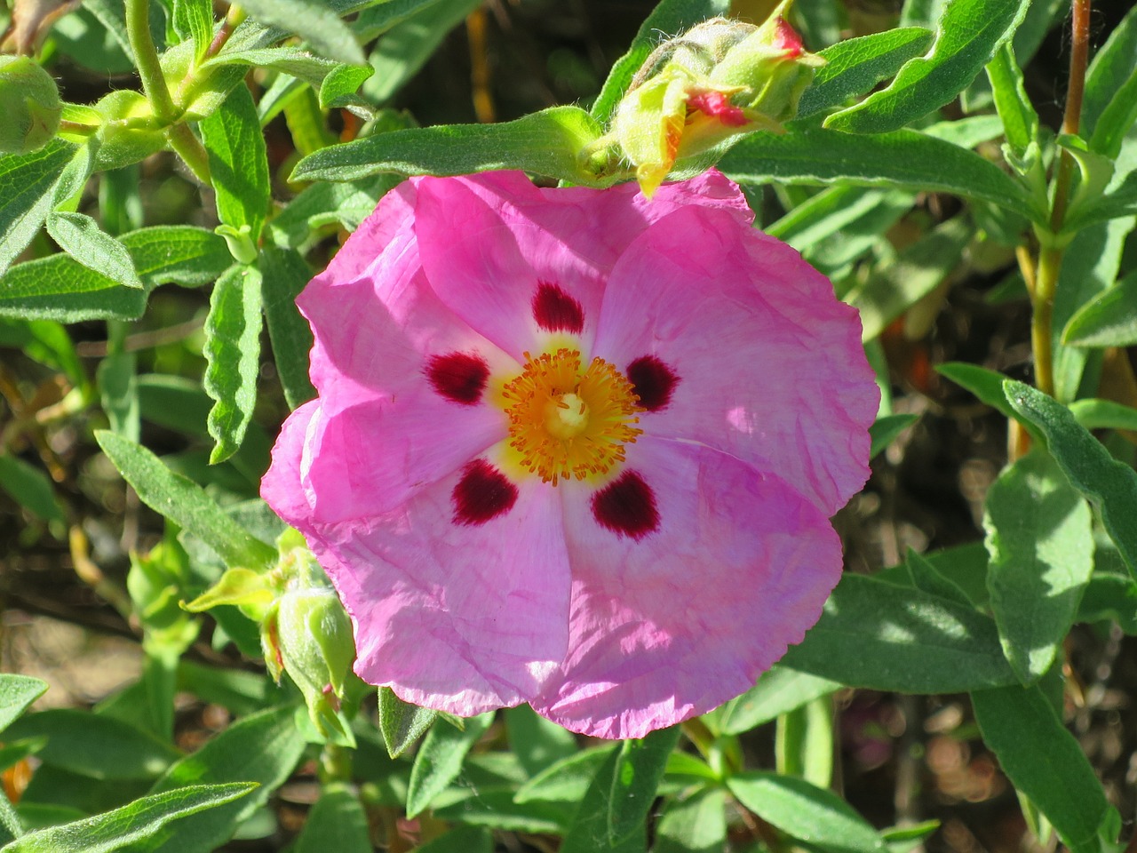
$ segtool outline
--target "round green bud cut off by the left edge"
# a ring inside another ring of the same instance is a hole
[[[0,152],[27,154],[43,148],[59,129],[59,89],[26,56],[0,56]]]

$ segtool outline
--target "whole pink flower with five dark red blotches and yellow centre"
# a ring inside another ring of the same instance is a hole
[[[878,392],[856,313],[709,172],[412,179],[301,293],[319,397],[262,488],[356,672],[641,737],[748,689],[841,571]]]

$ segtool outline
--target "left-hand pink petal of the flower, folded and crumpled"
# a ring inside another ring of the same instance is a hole
[[[516,364],[438,300],[408,227],[374,254],[379,270],[319,276],[298,300],[315,330],[321,400],[304,482],[314,519],[325,522],[388,512],[506,434],[500,409],[447,399],[428,370],[432,356],[451,353],[476,355],[488,371]]]

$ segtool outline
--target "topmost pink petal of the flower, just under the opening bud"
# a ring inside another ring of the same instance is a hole
[[[738,188],[716,172],[669,184],[650,201],[636,184],[542,190],[521,172],[415,179],[415,233],[431,285],[517,359],[550,331],[534,315],[542,284],[579,305],[581,326],[554,331],[575,333],[588,350],[613,264],[653,222],[691,205],[745,224],[754,218]]]

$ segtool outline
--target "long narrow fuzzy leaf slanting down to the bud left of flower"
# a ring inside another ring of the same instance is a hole
[[[276,549],[254,538],[197,483],[175,474],[141,445],[106,430],[99,446],[147,506],[200,537],[230,568],[262,569],[276,562]]]

